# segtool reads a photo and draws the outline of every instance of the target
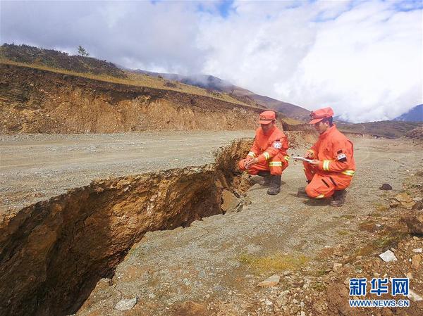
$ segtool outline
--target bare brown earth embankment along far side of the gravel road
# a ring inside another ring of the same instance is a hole
[[[257,127],[259,108],[183,92],[0,64],[0,133],[114,133]],[[284,129],[302,129],[282,120]]]

